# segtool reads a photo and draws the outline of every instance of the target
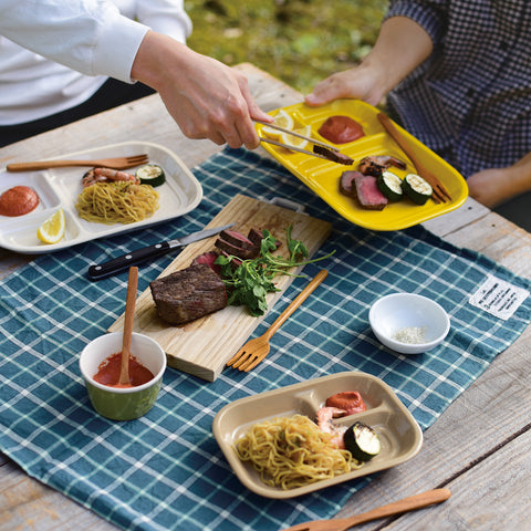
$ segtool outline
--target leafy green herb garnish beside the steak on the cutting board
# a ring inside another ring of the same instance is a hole
[[[325,257],[305,260],[308,258],[308,248],[302,241],[291,238],[292,228],[293,226],[290,225],[288,229],[284,229],[290,251],[289,258],[273,254],[278,248],[277,239],[267,229],[262,231],[258,258],[251,260],[240,260],[233,256],[220,256],[217,258],[216,263],[221,267],[221,279],[229,293],[228,305],[238,306],[243,304],[248,306],[251,315],[263,315],[268,310],[266,295],[280,291],[273,283],[274,277],[279,274],[298,277],[289,270],[324,260],[334,253],[332,251]],[[240,263],[240,266],[235,267],[235,263]]]

